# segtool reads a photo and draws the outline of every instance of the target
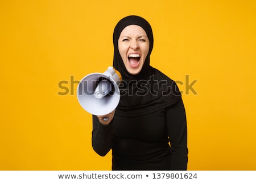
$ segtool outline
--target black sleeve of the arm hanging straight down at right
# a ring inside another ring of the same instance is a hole
[[[171,143],[171,170],[185,171],[188,163],[187,119],[181,99],[168,107],[166,117]]]

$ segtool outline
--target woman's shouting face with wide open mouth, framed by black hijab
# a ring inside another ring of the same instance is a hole
[[[129,25],[121,32],[118,39],[118,51],[125,68],[131,75],[141,72],[149,45],[147,33],[140,26]]]

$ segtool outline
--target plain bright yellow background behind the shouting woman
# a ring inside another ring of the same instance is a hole
[[[188,170],[256,170],[251,0],[1,1],[1,170],[111,169],[111,152],[92,150],[72,79],[112,65],[114,26],[131,14],[151,23],[151,65],[183,90]],[[186,75],[197,94],[185,93]]]

